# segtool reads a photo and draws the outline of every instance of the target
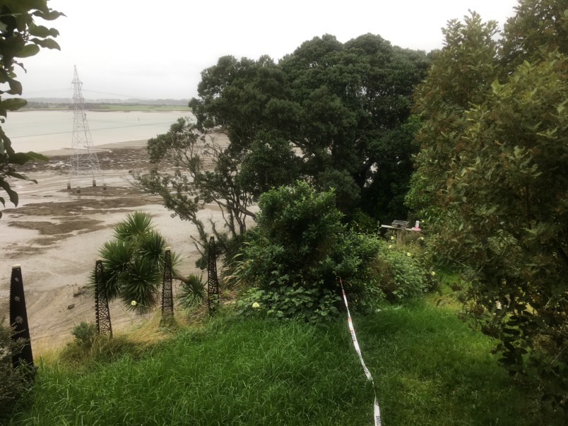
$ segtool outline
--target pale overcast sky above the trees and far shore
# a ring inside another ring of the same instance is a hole
[[[372,32],[393,45],[442,47],[441,28],[468,9],[502,25],[516,0],[50,0],[61,52],[42,49],[18,73],[25,97],[71,97],[73,64],[85,98],[187,98],[226,54],[276,61],[326,33]],[[122,96],[119,96],[122,95]]]

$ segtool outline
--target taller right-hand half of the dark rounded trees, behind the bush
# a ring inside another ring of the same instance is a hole
[[[345,44],[324,35],[280,65],[295,114],[276,127],[304,154],[304,173],[316,187],[336,189],[346,213],[360,207],[382,220],[406,218],[398,196],[406,193],[415,153],[406,123],[414,85],[427,69],[425,54],[393,47],[379,35]]]

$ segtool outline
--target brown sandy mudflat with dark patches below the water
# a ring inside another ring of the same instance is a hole
[[[112,227],[131,211],[147,211],[172,249],[185,256],[182,273],[198,272],[199,256],[190,235],[191,223],[171,218],[158,199],[131,186],[129,170],[148,167],[146,141],[97,146],[107,190],[85,183],[81,194],[68,191],[70,151],[45,153],[49,162],[26,165],[22,170],[37,184],[11,182],[20,196],[18,208],[6,201],[0,219],[0,318],[8,317],[11,267],[20,264],[30,321],[32,348],[60,345],[81,321],[95,321],[93,296],[85,291],[98,249],[112,238]],[[7,199],[8,197],[5,196]],[[211,206],[203,219],[214,220],[220,212]],[[114,330],[124,329],[141,317],[126,312],[115,302],[110,307]]]

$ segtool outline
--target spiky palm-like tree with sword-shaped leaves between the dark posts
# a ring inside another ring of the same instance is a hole
[[[120,298],[126,309],[139,314],[155,307],[165,249],[165,239],[154,229],[150,214],[129,213],[114,227],[114,239],[99,250],[108,299]],[[179,255],[172,252],[172,268],[178,263]],[[173,271],[172,275],[179,276]]]

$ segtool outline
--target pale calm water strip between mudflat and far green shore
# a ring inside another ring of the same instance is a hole
[[[95,112],[87,111],[87,121],[95,146],[105,143],[139,141],[165,133],[186,111]],[[71,148],[73,111],[8,112],[2,124],[16,152]]]

